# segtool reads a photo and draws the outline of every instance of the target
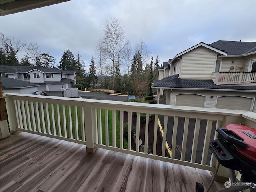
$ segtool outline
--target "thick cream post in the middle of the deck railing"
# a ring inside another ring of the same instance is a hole
[[[94,134],[95,127],[93,127],[93,121],[96,118],[93,112],[92,105],[90,103],[84,104],[84,118],[85,118],[85,141],[86,152],[93,153],[96,148],[94,147]]]

